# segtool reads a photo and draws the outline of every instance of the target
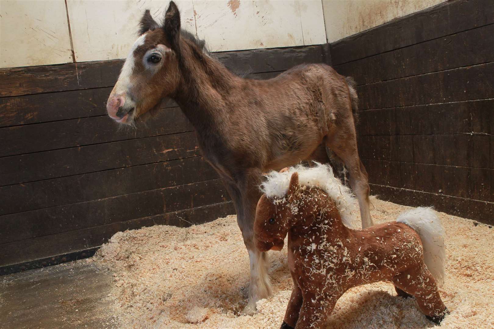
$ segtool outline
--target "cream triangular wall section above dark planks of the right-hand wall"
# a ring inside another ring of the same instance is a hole
[[[337,41],[446,0],[323,0],[328,42]]]

